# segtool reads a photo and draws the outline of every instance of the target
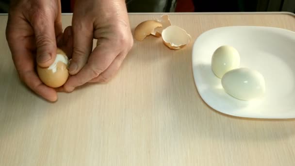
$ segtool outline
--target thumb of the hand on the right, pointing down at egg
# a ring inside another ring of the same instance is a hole
[[[73,16],[73,54],[69,73],[77,74],[86,64],[93,45],[93,24]]]

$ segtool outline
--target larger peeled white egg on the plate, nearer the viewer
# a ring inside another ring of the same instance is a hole
[[[224,90],[239,100],[261,98],[265,93],[265,81],[261,73],[242,67],[225,73],[221,79]]]

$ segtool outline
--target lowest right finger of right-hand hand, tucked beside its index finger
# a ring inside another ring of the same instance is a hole
[[[119,70],[125,56],[126,56],[125,52],[120,53],[112,62],[112,64],[104,72],[102,72],[101,74],[98,75],[98,77],[92,79],[89,82],[90,83],[106,83],[110,81],[110,79],[113,78],[116,72]]]

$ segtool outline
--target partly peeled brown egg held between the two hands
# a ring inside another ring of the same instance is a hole
[[[55,61],[49,67],[37,66],[40,80],[49,87],[60,87],[68,79],[68,58],[63,50],[57,49]]]

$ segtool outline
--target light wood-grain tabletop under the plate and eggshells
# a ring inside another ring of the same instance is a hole
[[[132,31],[162,14],[131,14]],[[63,25],[71,23],[63,16]],[[49,103],[22,85],[0,16],[0,166],[294,166],[295,120],[246,119],[206,105],[194,83],[195,39],[215,27],[295,31],[288,14],[171,14],[192,35],[182,50],[134,42],[115,78]],[[95,44],[95,43],[94,43]]]

